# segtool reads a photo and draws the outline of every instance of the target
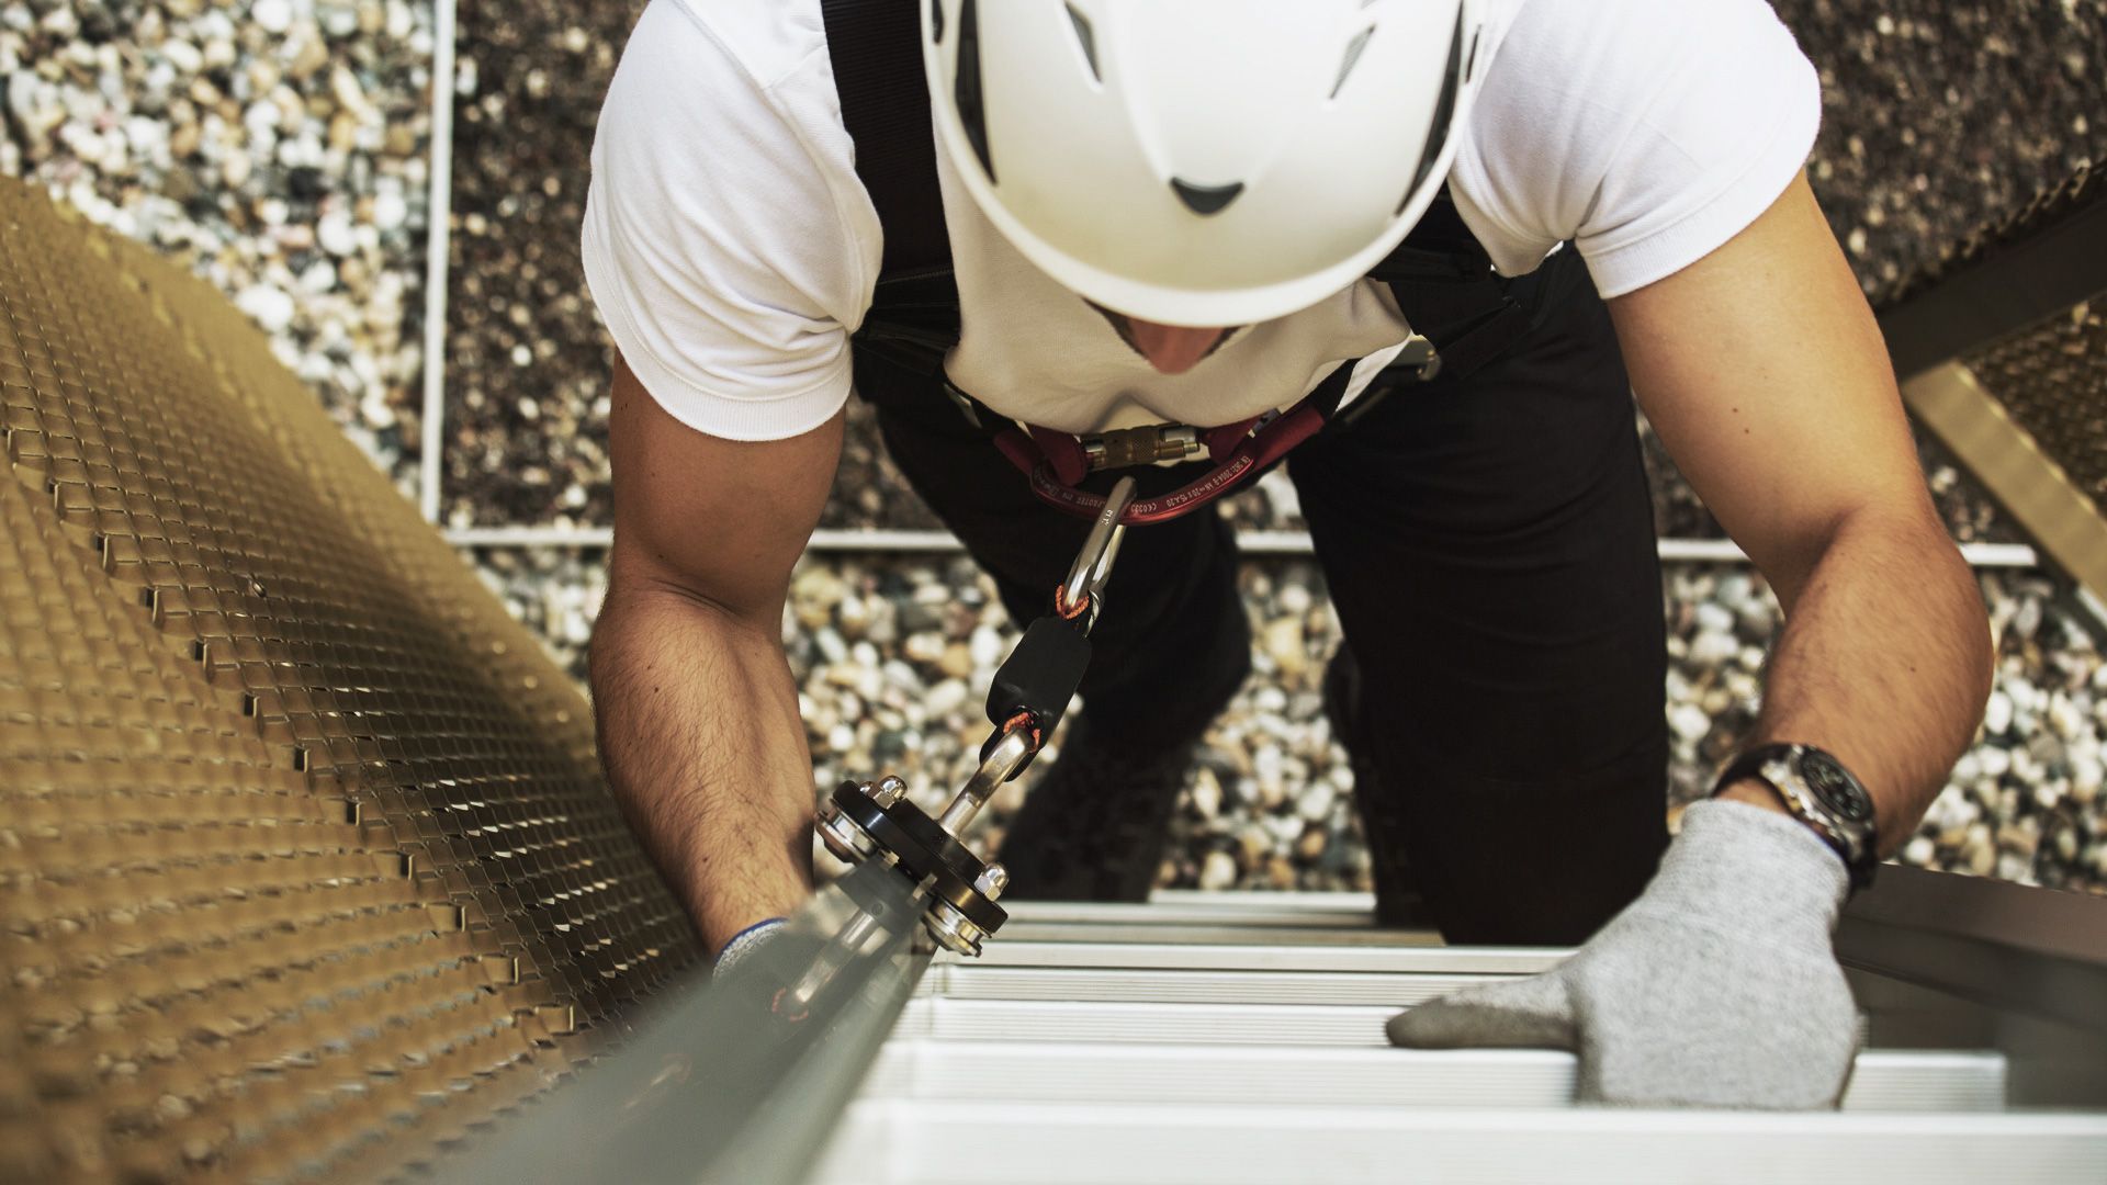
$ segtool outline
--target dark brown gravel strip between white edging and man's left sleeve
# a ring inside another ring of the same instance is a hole
[[[577,228],[600,95],[643,11],[624,0],[459,8],[447,293],[451,525],[607,523],[611,348]]]

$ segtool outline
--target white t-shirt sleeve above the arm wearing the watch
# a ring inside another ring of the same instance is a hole
[[[1572,240],[1616,297],[1753,224],[1818,127],[1820,80],[1766,0],[1528,0],[1454,190],[1502,272]]]

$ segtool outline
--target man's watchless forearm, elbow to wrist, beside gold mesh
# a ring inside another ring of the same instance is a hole
[[[600,761],[714,951],[811,888],[811,755],[775,628],[609,588],[592,633]]]

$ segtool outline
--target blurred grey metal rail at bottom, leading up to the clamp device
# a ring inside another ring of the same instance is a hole
[[[590,1065],[470,1132],[434,1177],[805,1181],[927,966],[908,951],[910,894],[891,867],[851,869],[733,974],[693,974],[611,1021]]]

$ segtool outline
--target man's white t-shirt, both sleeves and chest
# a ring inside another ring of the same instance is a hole
[[[1572,240],[1606,297],[1747,228],[1806,164],[1814,67],[1766,0],[1490,0],[1490,67],[1450,188],[1504,274]],[[1342,162],[1351,167],[1351,162]],[[1089,432],[1233,424],[1346,358],[1348,396],[1410,337],[1361,280],[1247,327],[1182,375],[1129,350],[938,175],[963,304],[946,363],[1003,415]],[[879,276],[820,0],[651,0],[592,143],[586,283],[645,388],[735,441],[796,436],[849,396]]]

